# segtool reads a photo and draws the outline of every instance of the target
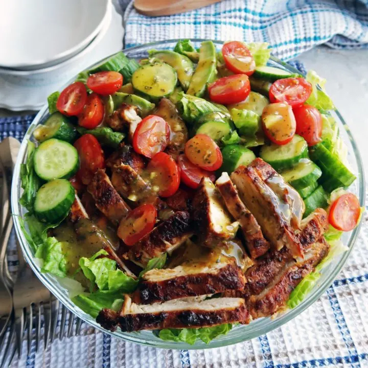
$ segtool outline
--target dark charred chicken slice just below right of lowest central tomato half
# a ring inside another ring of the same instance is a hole
[[[143,239],[135,243],[128,251],[127,257],[140,266],[146,266],[148,261],[171,253],[192,236],[189,213],[175,212],[168,220],[159,223]]]

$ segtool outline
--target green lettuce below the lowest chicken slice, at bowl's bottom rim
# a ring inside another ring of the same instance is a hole
[[[158,337],[166,341],[181,341],[193,345],[197,338],[205,343],[209,343],[219,335],[226,335],[232,328],[232,324],[223,324],[199,329],[164,329],[159,331]]]

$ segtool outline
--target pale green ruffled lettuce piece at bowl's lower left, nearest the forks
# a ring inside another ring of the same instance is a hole
[[[36,258],[43,260],[41,272],[50,272],[59,277],[66,276],[66,259],[62,250],[62,243],[56,238],[47,238],[37,248]]]

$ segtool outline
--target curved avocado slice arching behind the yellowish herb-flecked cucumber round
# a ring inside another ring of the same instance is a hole
[[[183,90],[186,91],[189,88],[189,83],[194,73],[194,67],[192,61],[187,56],[170,50],[150,52],[149,55],[150,57],[155,57],[171,65],[176,71]]]

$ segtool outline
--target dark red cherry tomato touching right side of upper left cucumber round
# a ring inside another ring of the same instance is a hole
[[[78,151],[80,168],[78,178],[84,185],[88,185],[98,169],[105,168],[105,157],[100,143],[92,134],[83,134],[74,142]]]

